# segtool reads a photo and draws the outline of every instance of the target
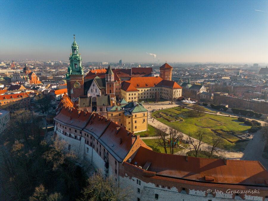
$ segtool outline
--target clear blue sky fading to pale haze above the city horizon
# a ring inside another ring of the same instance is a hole
[[[268,1],[0,5],[2,59],[67,60],[75,34],[84,61],[268,62]]]

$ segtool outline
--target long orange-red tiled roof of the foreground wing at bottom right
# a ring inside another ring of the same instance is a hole
[[[186,161],[185,156],[157,153],[144,147],[138,149],[131,161],[141,167],[149,161],[148,171],[164,177],[252,185],[256,181],[265,184],[268,179],[268,172],[259,161],[227,160],[226,165],[222,159],[188,157]]]

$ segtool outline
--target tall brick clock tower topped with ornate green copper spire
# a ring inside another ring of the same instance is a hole
[[[84,94],[84,70],[79,46],[75,41],[75,35],[69,60],[70,65],[66,73],[67,92],[71,100],[75,101],[78,100],[79,96]]]

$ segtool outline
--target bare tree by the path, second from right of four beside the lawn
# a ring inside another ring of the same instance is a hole
[[[206,135],[207,133],[205,132],[204,129],[202,128],[198,128],[197,131],[194,133],[194,136],[196,136],[196,139],[188,137],[187,141],[189,142],[189,144],[191,145],[189,147],[190,151],[194,153],[194,156],[197,157],[199,151],[200,151],[200,147],[202,144],[205,144],[205,139],[206,139]],[[193,149],[193,150],[192,150]]]

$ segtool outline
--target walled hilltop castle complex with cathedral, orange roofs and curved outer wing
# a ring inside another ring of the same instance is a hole
[[[268,172],[258,161],[157,153],[134,135],[147,130],[147,110],[139,100],[182,94],[171,81],[172,67],[166,63],[161,69],[160,77],[150,77],[151,69],[134,74],[110,66],[84,76],[74,40],[66,74],[69,97],[57,108],[55,135],[104,177],[132,189],[131,200],[268,200]]]

